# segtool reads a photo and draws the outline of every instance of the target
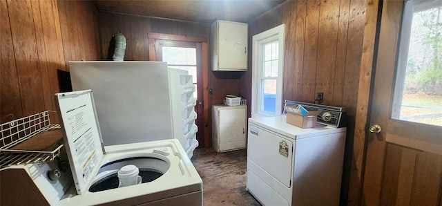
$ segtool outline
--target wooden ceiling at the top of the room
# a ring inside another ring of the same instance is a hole
[[[216,19],[248,22],[286,0],[93,1],[99,11],[210,24]]]

